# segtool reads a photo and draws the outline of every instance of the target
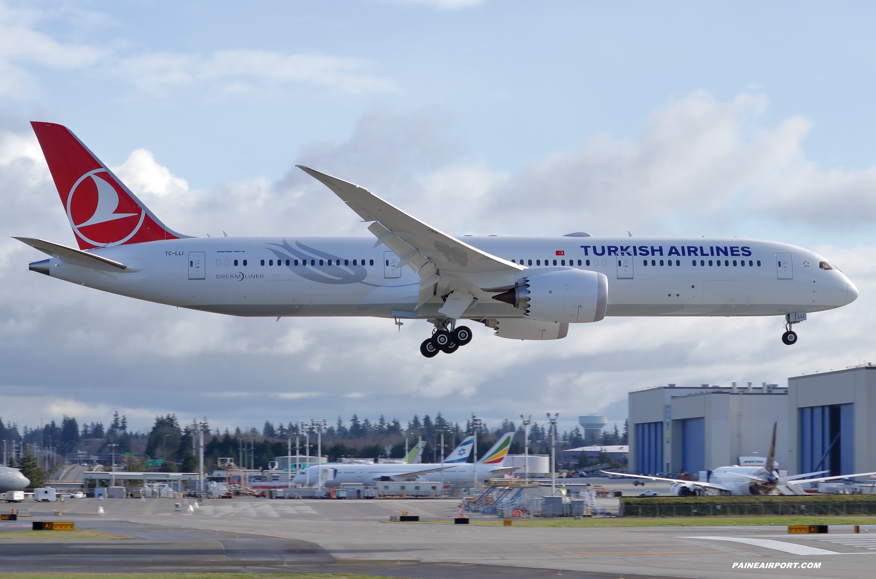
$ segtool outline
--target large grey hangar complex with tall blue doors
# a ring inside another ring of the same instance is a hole
[[[876,365],[788,378],[788,387],[647,388],[631,392],[630,472],[700,471],[765,459],[831,475],[876,471]]]

